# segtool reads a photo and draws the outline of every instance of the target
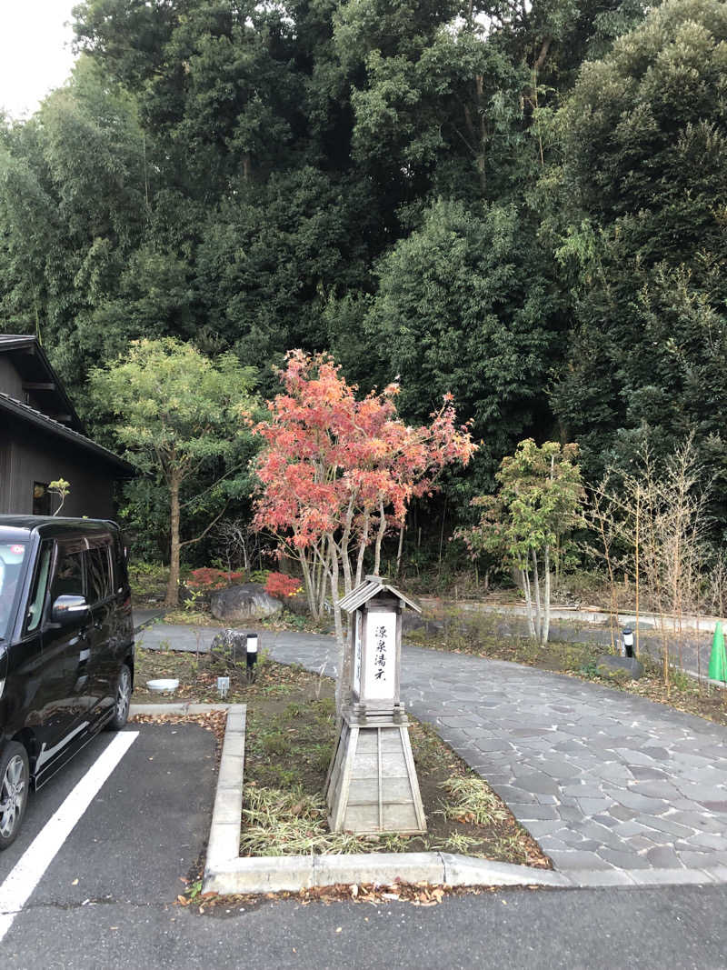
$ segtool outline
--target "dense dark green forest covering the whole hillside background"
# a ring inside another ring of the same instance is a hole
[[[722,0],[87,0],[75,31],[0,121],[0,328],[99,438],[85,375],[174,337],[264,396],[292,348],[398,376],[408,420],[451,392],[481,447],[437,539],[527,436],[594,481],[692,434],[725,482]]]

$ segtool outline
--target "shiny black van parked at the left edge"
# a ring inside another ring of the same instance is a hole
[[[0,850],[38,789],[126,724],[134,623],[118,526],[0,515]]]

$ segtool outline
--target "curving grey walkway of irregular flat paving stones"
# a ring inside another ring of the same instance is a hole
[[[197,634],[183,630],[148,635],[193,649]],[[262,645],[275,660],[334,672],[331,637],[266,633]],[[402,650],[401,695],[556,868],[727,880],[727,728],[576,678],[418,647]]]

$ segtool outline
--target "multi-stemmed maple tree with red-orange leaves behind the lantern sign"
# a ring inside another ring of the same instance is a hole
[[[396,413],[397,384],[357,400],[327,354],[292,350],[278,374],[283,393],[253,426],[265,441],[254,525],[300,562],[313,616],[331,590],[342,642],[338,599],[361,582],[365,550],[373,545],[378,573],[387,530],[403,527],[411,499],[430,494],[445,466],[466,465],[476,445],[451,395],[430,424],[412,427]]]

